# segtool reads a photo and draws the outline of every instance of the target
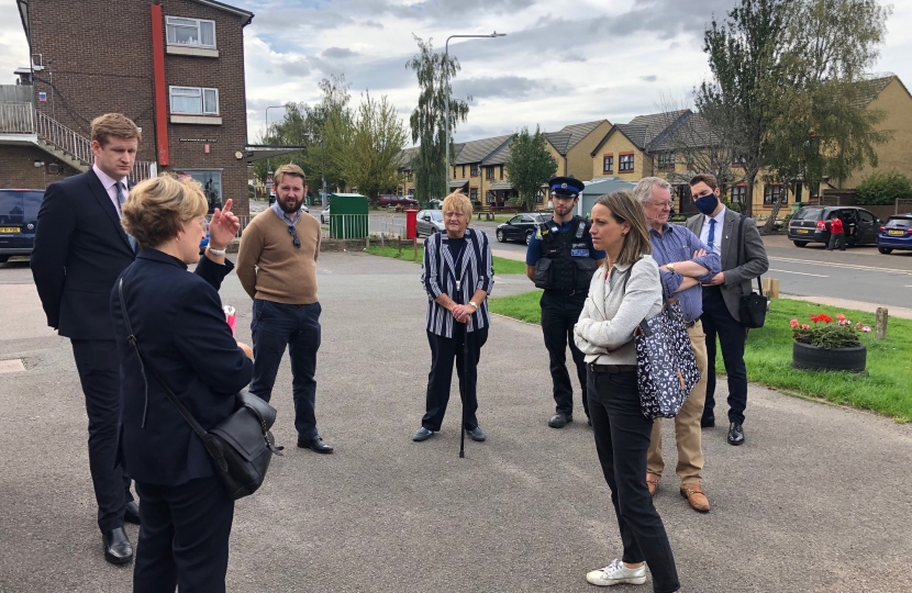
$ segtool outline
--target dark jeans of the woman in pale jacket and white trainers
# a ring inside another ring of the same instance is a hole
[[[621,528],[629,563],[645,561],[653,573],[653,591],[678,591],[678,571],[665,525],[646,486],[646,451],[653,421],[643,417],[636,372],[590,372],[589,411],[596,450],[611,503]]]

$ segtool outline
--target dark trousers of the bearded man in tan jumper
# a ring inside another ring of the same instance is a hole
[[[316,438],[316,350],[320,349],[320,303],[293,305],[254,300],[254,379],[251,393],[269,401],[279,363],[288,346],[291,392],[298,438]]]

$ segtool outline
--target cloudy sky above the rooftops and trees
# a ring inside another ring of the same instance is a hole
[[[146,1],[146,0],[120,0]],[[454,93],[471,96],[456,142],[536,125],[554,132],[607,119],[625,123],[666,107],[689,107],[709,76],[703,31],[735,0],[222,0],[255,14],[244,30],[247,128],[256,142],[266,108],[315,103],[319,82],[344,75],[352,100],[387,96],[408,125],[418,81],[405,63],[413,36],[443,48],[452,40],[460,71]],[[912,88],[912,0],[896,0],[886,44],[872,68]],[[0,0],[0,83],[27,65],[14,0]],[[269,121],[281,118],[270,109]],[[411,144],[411,143],[410,143]]]

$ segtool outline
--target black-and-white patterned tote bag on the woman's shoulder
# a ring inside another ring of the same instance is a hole
[[[661,312],[639,322],[633,333],[639,406],[648,419],[677,416],[700,381],[681,305],[677,299],[667,299],[664,292],[661,299]]]

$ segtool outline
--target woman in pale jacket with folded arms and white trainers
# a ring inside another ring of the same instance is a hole
[[[646,451],[653,421],[643,416],[636,383],[633,332],[661,311],[658,266],[649,255],[643,208],[626,191],[602,195],[592,206],[592,243],[608,257],[592,277],[574,331],[586,355],[587,392],[596,450],[618,515],[624,551],[586,579],[596,585],[643,584],[678,591],[668,536],[646,486]]]

